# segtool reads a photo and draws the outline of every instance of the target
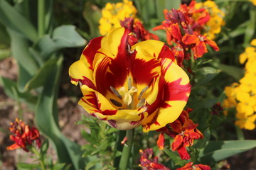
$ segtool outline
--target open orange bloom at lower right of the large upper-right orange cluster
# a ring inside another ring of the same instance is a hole
[[[192,50],[195,57],[202,57],[204,53],[208,52],[206,45],[213,47],[213,50],[218,51],[219,47],[213,40],[208,40],[203,35],[189,35],[186,34],[182,38],[182,42],[185,45],[193,45]]]

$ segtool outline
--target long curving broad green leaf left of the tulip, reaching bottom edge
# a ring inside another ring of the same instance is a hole
[[[60,79],[63,57],[55,64],[54,74],[48,76],[43,91],[36,105],[35,120],[41,130],[53,142],[60,162],[72,164],[73,169],[82,169],[85,160],[82,160],[80,146],[68,140],[58,128],[58,109],[56,98]]]

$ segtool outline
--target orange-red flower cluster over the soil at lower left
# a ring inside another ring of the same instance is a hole
[[[10,135],[10,139],[15,143],[9,147],[7,150],[14,150],[22,148],[24,151],[28,152],[28,147],[32,145],[33,141],[36,141],[36,145],[41,147],[40,134],[36,128],[30,128],[28,125],[23,123],[22,120],[16,119],[14,123],[11,123],[9,128],[13,135]]]

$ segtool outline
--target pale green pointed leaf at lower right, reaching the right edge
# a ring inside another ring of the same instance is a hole
[[[199,157],[202,164],[210,164],[254,147],[256,147],[256,140],[210,141]]]

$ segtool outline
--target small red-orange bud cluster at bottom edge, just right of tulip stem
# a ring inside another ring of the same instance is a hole
[[[139,150],[141,154],[140,164],[142,170],[171,170],[166,166],[157,163],[158,157],[154,157],[153,149]]]

